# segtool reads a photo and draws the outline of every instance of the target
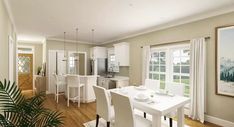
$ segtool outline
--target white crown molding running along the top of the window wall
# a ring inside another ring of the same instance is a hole
[[[108,44],[108,43],[112,43],[112,42],[115,42],[115,41],[140,36],[140,35],[143,35],[143,34],[147,34],[147,33],[155,32],[155,31],[167,29],[167,28],[170,28],[170,27],[179,26],[179,25],[199,21],[199,20],[202,20],[202,19],[206,19],[206,18],[210,18],[210,17],[230,13],[230,12],[233,12],[233,11],[234,11],[234,5],[230,5],[228,7],[222,8],[222,9],[217,9],[215,11],[185,17],[185,18],[182,18],[182,19],[178,19],[176,21],[170,21],[168,23],[164,23],[164,24],[149,28],[147,30],[143,30],[140,33],[135,33],[135,34],[131,34],[131,35],[123,35],[122,37],[100,43],[99,45]]]

